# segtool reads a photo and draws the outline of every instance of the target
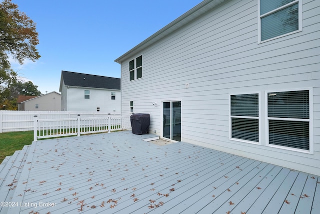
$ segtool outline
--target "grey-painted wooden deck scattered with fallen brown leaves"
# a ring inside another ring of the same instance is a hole
[[[10,205],[0,213],[319,213],[318,176],[184,142],[142,141],[152,136],[25,146],[0,164],[0,201]]]

